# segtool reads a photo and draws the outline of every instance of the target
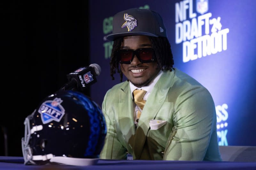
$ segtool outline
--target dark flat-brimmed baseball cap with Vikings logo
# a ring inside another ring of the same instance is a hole
[[[167,32],[162,17],[155,11],[132,8],[118,12],[113,18],[113,32],[106,39],[132,35],[167,37]]]

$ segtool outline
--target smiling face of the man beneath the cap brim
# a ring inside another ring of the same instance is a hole
[[[123,38],[123,42],[120,50],[117,55],[131,55],[131,53],[136,52],[137,50],[139,55],[151,55],[153,56],[154,50],[152,49],[151,42],[148,39],[148,36],[145,35],[136,35],[136,36],[127,36]],[[149,51],[147,51],[149,50]],[[123,54],[124,53],[124,54]],[[148,56],[147,56],[148,57]],[[157,62],[143,63],[140,61],[137,55],[132,54],[132,62],[130,62],[130,57],[128,58],[129,64],[121,64],[121,71],[127,77],[131,83],[136,87],[146,86],[150,81],[152,81],[160,68],[157,66]]]

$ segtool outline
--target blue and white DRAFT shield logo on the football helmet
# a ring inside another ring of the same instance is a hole
[[[41,114],[43,124],[47,124],[51,121],[60,122],[60,119],[65,114],[65,109],[60,105],[63,100],[55,98],[54,100],[47,100],[41,104],[38,109],[38,113]]]

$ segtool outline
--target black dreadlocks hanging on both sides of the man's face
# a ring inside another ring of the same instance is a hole
[[[170,70],[172,71],[172,66],[174,64],[173,56],[172,56],[172,50],[171,45],[166,37],[151,37],[148,36],[152,48],[155,51],[156,59],[158,66],[161,68],[161,70]],[[119,62],[116,59],[115,51],[119,50],[121,47],[123,41],[123,37],[117,38],[114,40],[112,53],[110,56],[110,76],[112,77],[112,80],[114,80],[114,74],[119,73],[120,74],[120,81],[123,81],[123,73],[119,69]]]

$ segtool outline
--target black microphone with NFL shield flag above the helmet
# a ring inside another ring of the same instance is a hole
[[[73,89],[84,91],[84,89],[97,82],[96,76],[100,75],[100,72],[101,68],[98,64],[79,67],[74,72],[67,74],[68,82],[59,91]]]

